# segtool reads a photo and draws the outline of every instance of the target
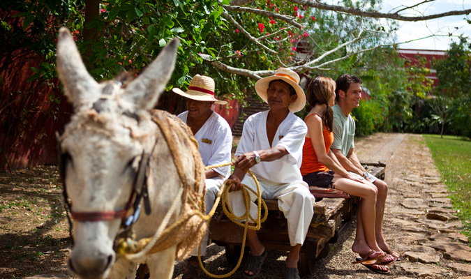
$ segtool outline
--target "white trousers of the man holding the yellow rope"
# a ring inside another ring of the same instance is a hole
[[[308,234],[309,225],[313,219],[313,204],[315,198],[309,192],[306,183],[274,183],[264,179],[258,179],[262,198],[278,199],[278,209],[280,209],[287,219],[288,236],[291,246],[303,244]],[[257,192],[257,185],[251,176],[246,175],[242,180],[243,184]],[[257,205],[255,200],[257,196],[251,192],[251,216],[257,218]],[[227,196],[232,211],[236,216],[241,216],[246,212],[244,206],[244,196],[242,191],[234,191]]]

